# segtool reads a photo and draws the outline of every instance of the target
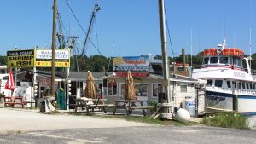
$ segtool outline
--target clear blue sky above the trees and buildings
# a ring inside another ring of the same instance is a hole
[[[79,23],[87,32],[95,0],[67,0]],[[196,55],[216,47],[226,38],[227,47],[256,53],[256,1],[254,0],[166,0],[169,32],[167,53]],[[81,51],[85,34],[74,19],[66,0],[58,0],[58,12],[65,37],[79,37]],[[90,34],[86,55],[138,56],[161,55],[158,0],[98,0],[102,10]],[[8,50],[51,48],[53,0],[1,0],[0,55]],[[167,30],[166,27],[166,30]],[[57,27],[58,29],[58,27]],[[171,41],[170,41],[171,39]],[[191,44],[192,42],[192,44]],[[172,48],[171,48],[172,43]],[[192,48],[192,50],[191,50]]]

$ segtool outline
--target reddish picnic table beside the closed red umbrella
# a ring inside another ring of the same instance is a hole
[[[4,107],[7,107],[7,105],[9,105],[10,107],[15,107],[15,105],[21,105],[21,107],[24,108],[24,105],[26,105],[26,101],[24,101],[23,96],[6,96],[4,97]]]

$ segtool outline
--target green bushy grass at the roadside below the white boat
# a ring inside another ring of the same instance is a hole
[[[201,123],[223,128],[249,129],[247,126],[247,117],[234,113],[220,113],[205,117]]]

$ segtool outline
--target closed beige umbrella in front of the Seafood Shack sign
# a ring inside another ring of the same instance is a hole
[[[130,71],[127,72],[127,77],[125,80],[125,100],[137,100],[133,78]]]

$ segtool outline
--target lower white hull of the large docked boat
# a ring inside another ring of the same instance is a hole
[[[206,90],[206,107],[232,111],[233,97],[230,93]],[[242,115],[256,115],[256,95],[237,95],[237,112]]]

